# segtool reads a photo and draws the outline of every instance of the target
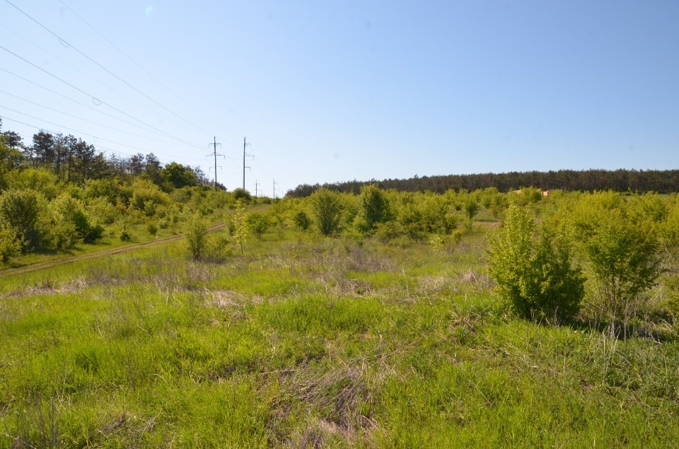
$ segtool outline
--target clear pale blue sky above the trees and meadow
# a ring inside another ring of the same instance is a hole
[[[281,196],[679,168],[676,0],[9,1],[62,38],[0,0],[0,45],[18,55],[0,49],[0,115],[28,144],[38,127],[213,177],[216,136],[233,189],[247,137],[245,187],[269,196],[274,180]]]

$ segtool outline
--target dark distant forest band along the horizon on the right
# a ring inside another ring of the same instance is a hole
[[[336,192],[358,194],[361,186],[374,184],[381,189],[404,192],[438,192],[467,189],[468,191],[495,187],[500,192],[538,187],[542,190],[562,189],[593,192],[679,192],[679,170],[559,170],[549,172],[482,173],[479,175],[415,175],[407,180],[369,180],[335,182],[334,184],[298,185],[287,192],[289,197],[308,197],[320,187]]]

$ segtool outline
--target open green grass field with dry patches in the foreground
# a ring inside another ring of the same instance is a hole
[[[671,447],[679,343],[510,319],[459,243],[286,231],[0,284],[0,447]]]

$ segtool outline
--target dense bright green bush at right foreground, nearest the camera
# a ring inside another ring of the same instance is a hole
[[[572,319],[584,296],[584,277],[571,263],[567,239],[540,231],[526,208],[509,206],[490,240],[489,272],[501,301],[521,317]]]

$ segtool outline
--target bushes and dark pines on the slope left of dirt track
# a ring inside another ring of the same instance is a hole
[[[28,145],[1,131],[0,267],[105,237],[174,232],[186,214],[209,216],[233,197],[199,168],[163,165],[153,153],[106,157],[70,134],[41,130]]]

